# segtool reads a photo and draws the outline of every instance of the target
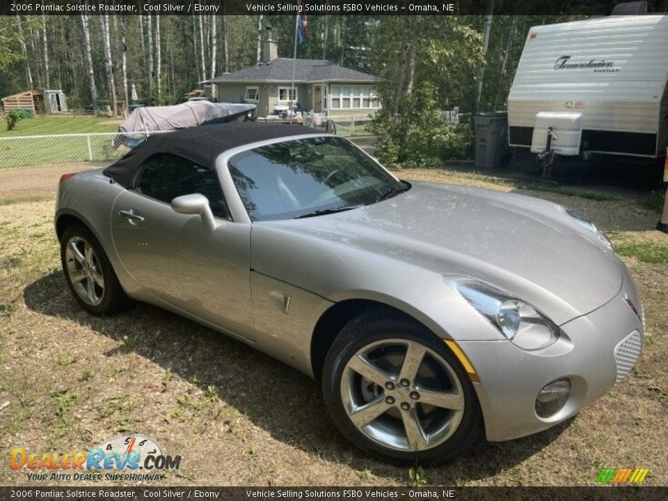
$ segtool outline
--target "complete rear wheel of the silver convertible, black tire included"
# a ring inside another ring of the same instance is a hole
[[[74,299],[93,315],[125,309],[123,291],[100,242],[83,225],[74,224],[61,237],[61,263]]]

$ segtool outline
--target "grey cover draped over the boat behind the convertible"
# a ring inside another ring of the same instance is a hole
[[[118,126],[118,132],[152,132],[186,129],[203,124],[232,122],[255,109],[255,104],[189,101],[174,106],[136,108]]]

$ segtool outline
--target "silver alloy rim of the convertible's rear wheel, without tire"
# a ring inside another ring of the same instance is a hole
[[[99,305],[104,296],[104,277],[100,261],[88,241],[72,237],[65,246],[67,276],[74,290],[89,305]]]

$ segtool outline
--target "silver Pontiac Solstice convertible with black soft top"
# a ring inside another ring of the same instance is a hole
[[[630,371],[642,306],[552,202],[400,181],[344,138],[223,124],[66,174],[63,270],[93,315],[152,303],[321,381],[338,429],[435,463],[578,413]]]

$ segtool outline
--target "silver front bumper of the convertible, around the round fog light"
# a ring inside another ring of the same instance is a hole
[[[560,326],[559,340],[546,349],[525,351],[507,340],[459,342],[480,381],[474,386],[487,440],[511,440],[548,429],[578,413],[630,371],[642,347],[643,326],[642,310],[636,315],[627,298],[641,308],[624,273],[617,296]],[[571,381],[566,404],[555,415],[538,417],[534,403],[541,388],[563,378]]]

